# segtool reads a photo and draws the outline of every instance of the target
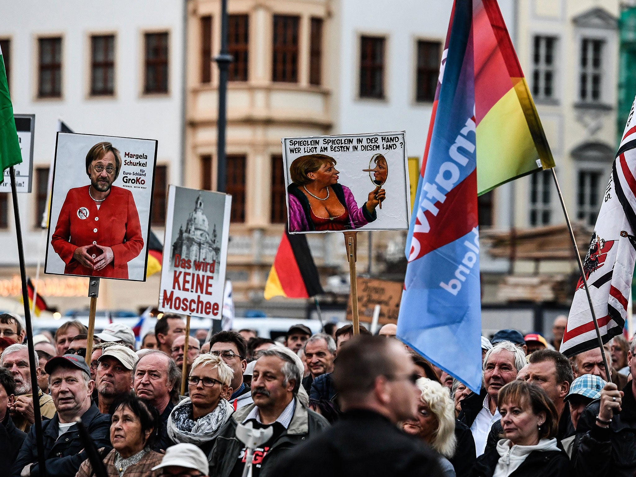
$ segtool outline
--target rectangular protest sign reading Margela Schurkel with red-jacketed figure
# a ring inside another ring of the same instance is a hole
[[[146,280],[157,141],[57,133],[45,273]]]

